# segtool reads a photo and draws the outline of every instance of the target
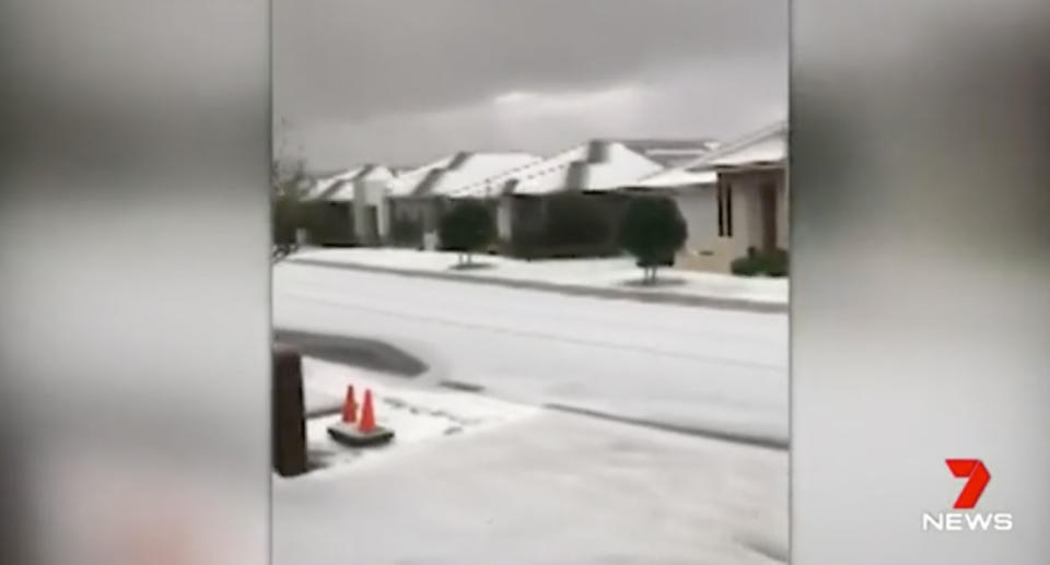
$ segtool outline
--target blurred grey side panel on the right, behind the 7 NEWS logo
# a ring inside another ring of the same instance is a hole
[[[792,1],[792,562],[1050,555],[1050,2]],[[924,533],[979,458],[977,511]]]

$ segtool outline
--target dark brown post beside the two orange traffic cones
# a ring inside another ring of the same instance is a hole
[[[294,349],[273,345],[271,388],[273,470],[281,476],[303,474],[307,471],[303,367]]]

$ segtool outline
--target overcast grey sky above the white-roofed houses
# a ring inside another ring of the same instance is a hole
[[[312,168],[786,117],[786,0],[275,0],[278,151]]]

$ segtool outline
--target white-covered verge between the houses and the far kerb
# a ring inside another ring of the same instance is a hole
[[[292,260],[325,261],[398,269],[423,273],[455,273],[464,278],[487,278],[508,281],[541,282],[625,292],[681,294],[711,298],[728,298],[770,304],[788,303],[788,280],[765,276],[733,276],[682,269],[665,269],[661,279],[675,284],[639,286],[641,271],[633,259],[558,259],[525,261],[501,256],[477,255],[475,261],[486,268],[453,270],[456,254],[392,248],[304,249]]]

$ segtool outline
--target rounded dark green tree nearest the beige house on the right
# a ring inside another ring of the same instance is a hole
[[[656,281],[656,270],[675,264],[675,254],[686,243],[686,221],[678,204],[667,197],[635,197],[627,205],[620,246],[638,259],[642,280]]]

